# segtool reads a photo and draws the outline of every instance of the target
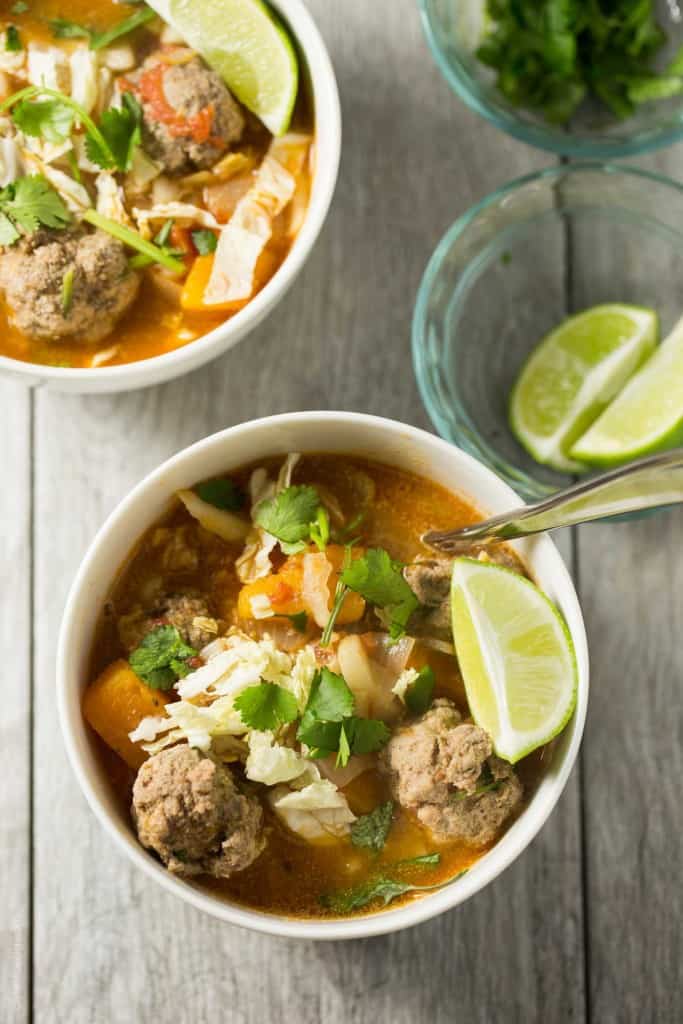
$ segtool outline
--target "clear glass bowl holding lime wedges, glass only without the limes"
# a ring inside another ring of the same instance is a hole
[[[570,478],[515,440],[512,385],[548,331],[602,302],[651,306],[663,337],[678,321],[683,185],[599,163],[530,174],[460,217],[423,276],[413,358],[431,421],[526,499]]]

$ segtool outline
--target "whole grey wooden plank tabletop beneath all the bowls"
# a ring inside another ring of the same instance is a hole
[[[163,387],[75,397],[0,384],[0,1021],[680,1021],[681,511],[567,539],[592,653],[580,763],[502,878],[411,931],[297,943],[204,916],[112,848],[67,763],[57,632],[104,517],[178,449],[253,417],[362,410],[428,427],[410,357],[428,255],[471,203],[552,162],[454,98],[416,0],[310,6],[337,70],[344,156],[327,227],[276,313]],[[645,163],[683,173],[680,146]]]

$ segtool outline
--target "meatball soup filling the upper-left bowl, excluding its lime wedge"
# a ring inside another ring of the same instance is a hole
[[[151,11],[99,45],[144,10],[0,0],[1,354],[96,369],[186,345],[263,288],[303,222],[304,90],[273,138]],[[38,221],[16,205],[37,189]]]

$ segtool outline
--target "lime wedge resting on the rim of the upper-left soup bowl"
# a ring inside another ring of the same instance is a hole
[[[299,65],[290,37],[269,7],[261,0],[151,0],[150,6],[273,135],[287,131]]]

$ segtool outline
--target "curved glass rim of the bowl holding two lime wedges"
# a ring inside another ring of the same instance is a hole
[[[540,181],[561,180],[564,178],[581,175],[585,173],[599,172],[606,176],[621,176],[627,180],[636,180],[641,183],[650,183],[664,186],[677,193],[683,193],[683,182],[660,174],[658,171],[646,170],[642,167],[635,167],[631,164],[615,164],[601,160],[581,160],[571,164],[555,164],[551,167],[544,167],[539,171],[531,171],[519,177],[512,178],[500,185],[494,191],[487,193],[482,199],[468,207],[464,213],[451,224],[443,232],[427,261],[425,269],[420,279],[418,291],[413,309],[413,319],[411,325],[411,348],[413,355],[413,370],[418,384],[418,391],[424,409],[438,432],[438,434],[453,444],[462,446],[465,452],[477,461],[481,461],[495,474],[503,477],[505,481],[519,489],[525,500],[538,501],[557,489],[551,484],[542,484],[532,481],[528,473],[523,470],[515,475],[514,466],[504,466],[503,460],[499,462],[495,459],[496,453],[489,453],[485,442],[479,443],[479,432],[470,426],[470,432],[477,438],[476,441],[470,439],[464,431],[460,431],[458,436],[454,435],[450,421],[443,415],[441,398],[436,393],[432,385],[432,366],[428,357],[428,307],[435,283],[438,280],[439,270],[443,264],[452,246],[463,234],[470,224],[482,213],[506,197],[514,193],[533,185]],[[683,237],[683,232],[682,232]],[[533,485],[531,485],[533,483]]]

